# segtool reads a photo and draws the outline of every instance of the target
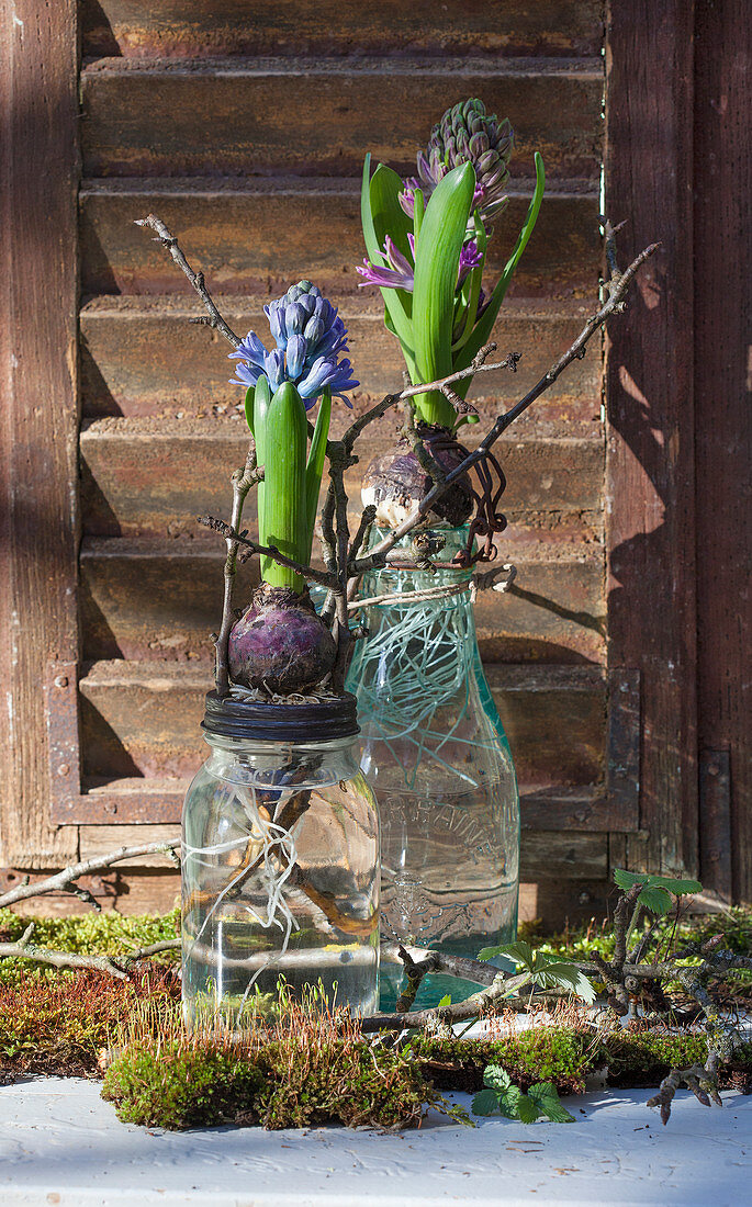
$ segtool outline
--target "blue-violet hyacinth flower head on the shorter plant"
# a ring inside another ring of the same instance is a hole
[[[307,409],[328,386],[350,407],[343,391],[354,390],[360,381],[352,377],[350,361],[340,358],[348,351],[348,330],[321,290],[310,281],[298,281],[284,297],[264,305],[264,314],[276,346],[268,352],[258,336],[249,331],[229,354],[238,361],[232,384],[247,389],[266,374],[274,392],[282,381],[292,381]]]

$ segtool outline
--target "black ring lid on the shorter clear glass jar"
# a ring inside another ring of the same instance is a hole
[[[202,728],[218,737],[305,746],[360,733],[356,700],[349,692],[311,704],[251,704],[208,692]]]

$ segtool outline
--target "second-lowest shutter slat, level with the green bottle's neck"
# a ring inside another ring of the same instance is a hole
[[[602,554],[593,533],[572,529],[542,540],[511,526],[502,559],[518,567],[503,596],[480,593],[476,605],[484,659],[526,663],[601,663],[605,658]],[[222,552],[196,541],[84,540],[81,616],[87,660],[139,663],[209,657],[218,623]],[[250,594],[243,567],[238,600]]]

